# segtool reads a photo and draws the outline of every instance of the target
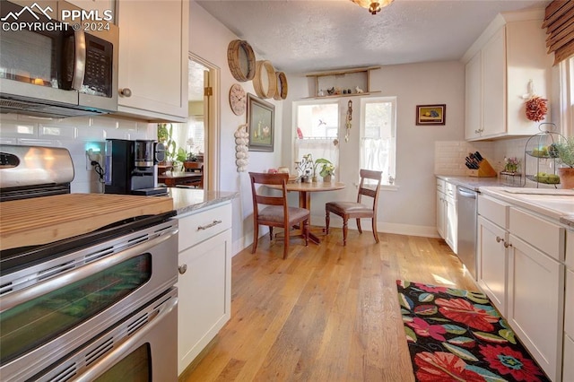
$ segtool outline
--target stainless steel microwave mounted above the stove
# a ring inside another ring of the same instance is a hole
[[[112,12],[61,0],[0,2],[0,113],[117,111],[119,31]]]

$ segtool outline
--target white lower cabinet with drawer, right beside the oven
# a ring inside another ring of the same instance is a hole
[[[230,319],[231,205],[179,218],[178,374]]]

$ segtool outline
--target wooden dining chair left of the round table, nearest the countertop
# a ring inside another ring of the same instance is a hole
[[[253,195],[253,247],[251,253],[257,250],[257,239],[259,238],[259,225],[269,227],[269,236],[273,239],[273,228],[283,228],[285,239],[283,244],[283,258],[287,258],[289,253],[289,233],[291,227],[300,224],[303,228],[305,247],[309,245],[309,210],[299,207],[290,207],[287,203],[286,184],[289,174],[265,174],[249,172],[251,179],[251,193]],[[258,185],[281,185],[281,195],[269,195],[266,187]],[[260,204],[263,208],[260,208]]]

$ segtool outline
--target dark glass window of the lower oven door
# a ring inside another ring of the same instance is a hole
[[[152,381],[152,351],[149,343],[129,353],[94,382],[148,382]]]

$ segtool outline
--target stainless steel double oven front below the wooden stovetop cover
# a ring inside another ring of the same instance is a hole
[[[30,199],[0,208],[14,203]],[[47,244],[4,247],[1,379],[176,381],[174,215],[144,214]]]

